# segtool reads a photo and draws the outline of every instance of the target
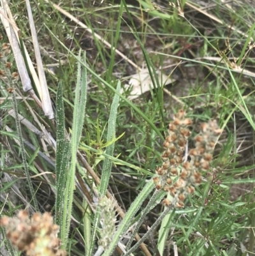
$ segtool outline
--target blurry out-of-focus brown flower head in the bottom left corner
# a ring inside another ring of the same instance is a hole
[[[50,213],[35,213],[29,218],[27,211],[20,211],[17,217],[1,218],[1,225],[12,245],[29,256],[67,255],[59,249],[59,227],[53,223]]]

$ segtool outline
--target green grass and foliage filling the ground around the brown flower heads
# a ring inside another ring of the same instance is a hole
[[[254,10],[238,1],[214,1],[210,8],[174,4],[77,0],[57,10],[45,0],[31,2],[55,119],[11,78],[17,64],[8,53],[10,74],[1,73],[1,215],[11,218],[22,209],[32,215],[38,204],[54,216],[68,255],[113,255],[122,244],[134,249],[142,237],[133,255],[254,254]],[[25,2],[10,10],[36,63]],[[4,52],[4,27],[1,34]],[[148,91],[129,100],[132,87],[125,85],[146,67]],[[156,72],[171,82],[161,84]],[[15,101],[20,132],[10,111]],[[201,123],[217,119],[224,131],[203,182],[186,196],[185,207],[171,209],[152,178],[163,163],[167,126],[180,109],[193,121],[189,149]],[[98,206],[111,202],[110,215]],[[105,234],[102,225],[112,225],[115,234]],[[139,236],[128,243],[136,225]],[[5,238],[6,230],[1,227]],[[2,248],[18,255],[5,238]]]

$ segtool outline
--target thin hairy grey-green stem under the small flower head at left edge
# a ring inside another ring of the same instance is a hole
[[[25,177],[27,178],[29,190],[30,190],[33,202],[34,202],[34,209],[35,209],[35,211],[39,211],[38,202],[36,200],[36,194],[34,192],[33,183],[31,181],[31,177],[30,177],[29,170],[28,170],[27,158],[25,157],[25,147],[24,147],[23,138],[22,138],[20,120],[18,119],[18,106],[17,106],[16,97],[15,97],[15,90],[11,94],[11,97],[12,97],[11,99],[12,99],[12,103],[13,103],[13,109],[15,112],[15,122],[16,122],[16,127],[17,127],[17,132],[18,132],[18,140],[20,142],[20,151],[21,151],[21,156],[22,156],[22,162],[24,164]]]

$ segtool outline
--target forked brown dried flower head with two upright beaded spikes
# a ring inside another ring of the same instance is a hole
[[[168,136],[164,141],[165,151],[162,154],[164,161],[162,167],[157,167],[157,190],[168,191],[173,197],[172,206],[184,207],[186,194],[194,193],[194,186],[202,181],[201,171],[210,169],[212,153],[222,130],[217,122],[209,121],[201,124],[201,132],[194,137],[195,148],[189,151],[191,161],[182,162],[182,155],[187,144],[187,138],[191,135],[188,126],[191,119],[186,118],[184,110],[180,110],[169,124]],[[173,177],[179,178],[173,181]],[[171,186],[169,186],[171,184]],[[164,201],[164,204],[165,201]],[[166,204],[170,205],[170,204]]]

